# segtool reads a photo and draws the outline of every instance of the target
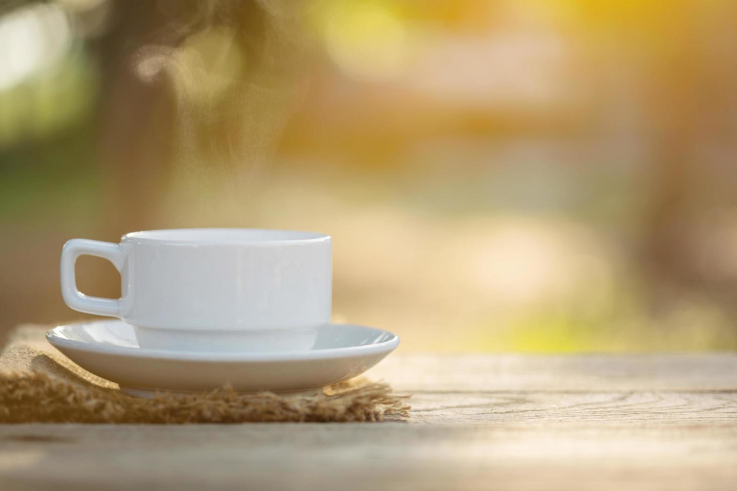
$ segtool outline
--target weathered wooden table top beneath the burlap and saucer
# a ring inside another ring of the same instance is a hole
[[[0,489],[736,490],[737,354],[394,355],[407,421],[0,425]]]

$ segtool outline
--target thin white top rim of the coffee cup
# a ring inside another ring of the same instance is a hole
[[[200,237],[197,237],[200,236]],[[324,233],[269,228],[162,228],[139,230],[122,236],[123,242],[147,244],[310,244],[330,240]]]

